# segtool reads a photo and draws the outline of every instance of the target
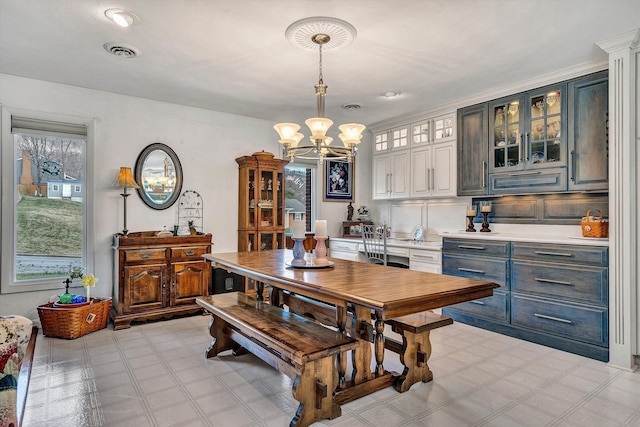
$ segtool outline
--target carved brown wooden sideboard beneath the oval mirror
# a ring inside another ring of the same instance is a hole
[[[132,321],[202,311],[197,297],[208,295],[211,234],[158,237],[155,231],[114,235],[114,329]]]

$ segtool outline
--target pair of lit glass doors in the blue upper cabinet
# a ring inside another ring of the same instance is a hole
[[[566,166],[563,85],[489,104],[490,172]]]

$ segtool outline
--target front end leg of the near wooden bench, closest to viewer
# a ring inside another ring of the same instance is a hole
[[[302,367],[293,381],[293,397],[300,402],[290,427],[307,427],[321,419],[334,419],[342,414],[333,399],[338,384],[335,357],[325,357]]]

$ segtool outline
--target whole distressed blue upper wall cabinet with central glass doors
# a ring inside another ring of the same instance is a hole
[[[459,110],[458,195],[606,191],[607,81],[595,73]]]

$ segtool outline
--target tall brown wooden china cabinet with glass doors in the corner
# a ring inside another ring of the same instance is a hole
[[[236,159],[239,167],[238,251],[285,247],[284,167],[286,160],[260,151]],[[245,292],[253,291],[247,281]]]

